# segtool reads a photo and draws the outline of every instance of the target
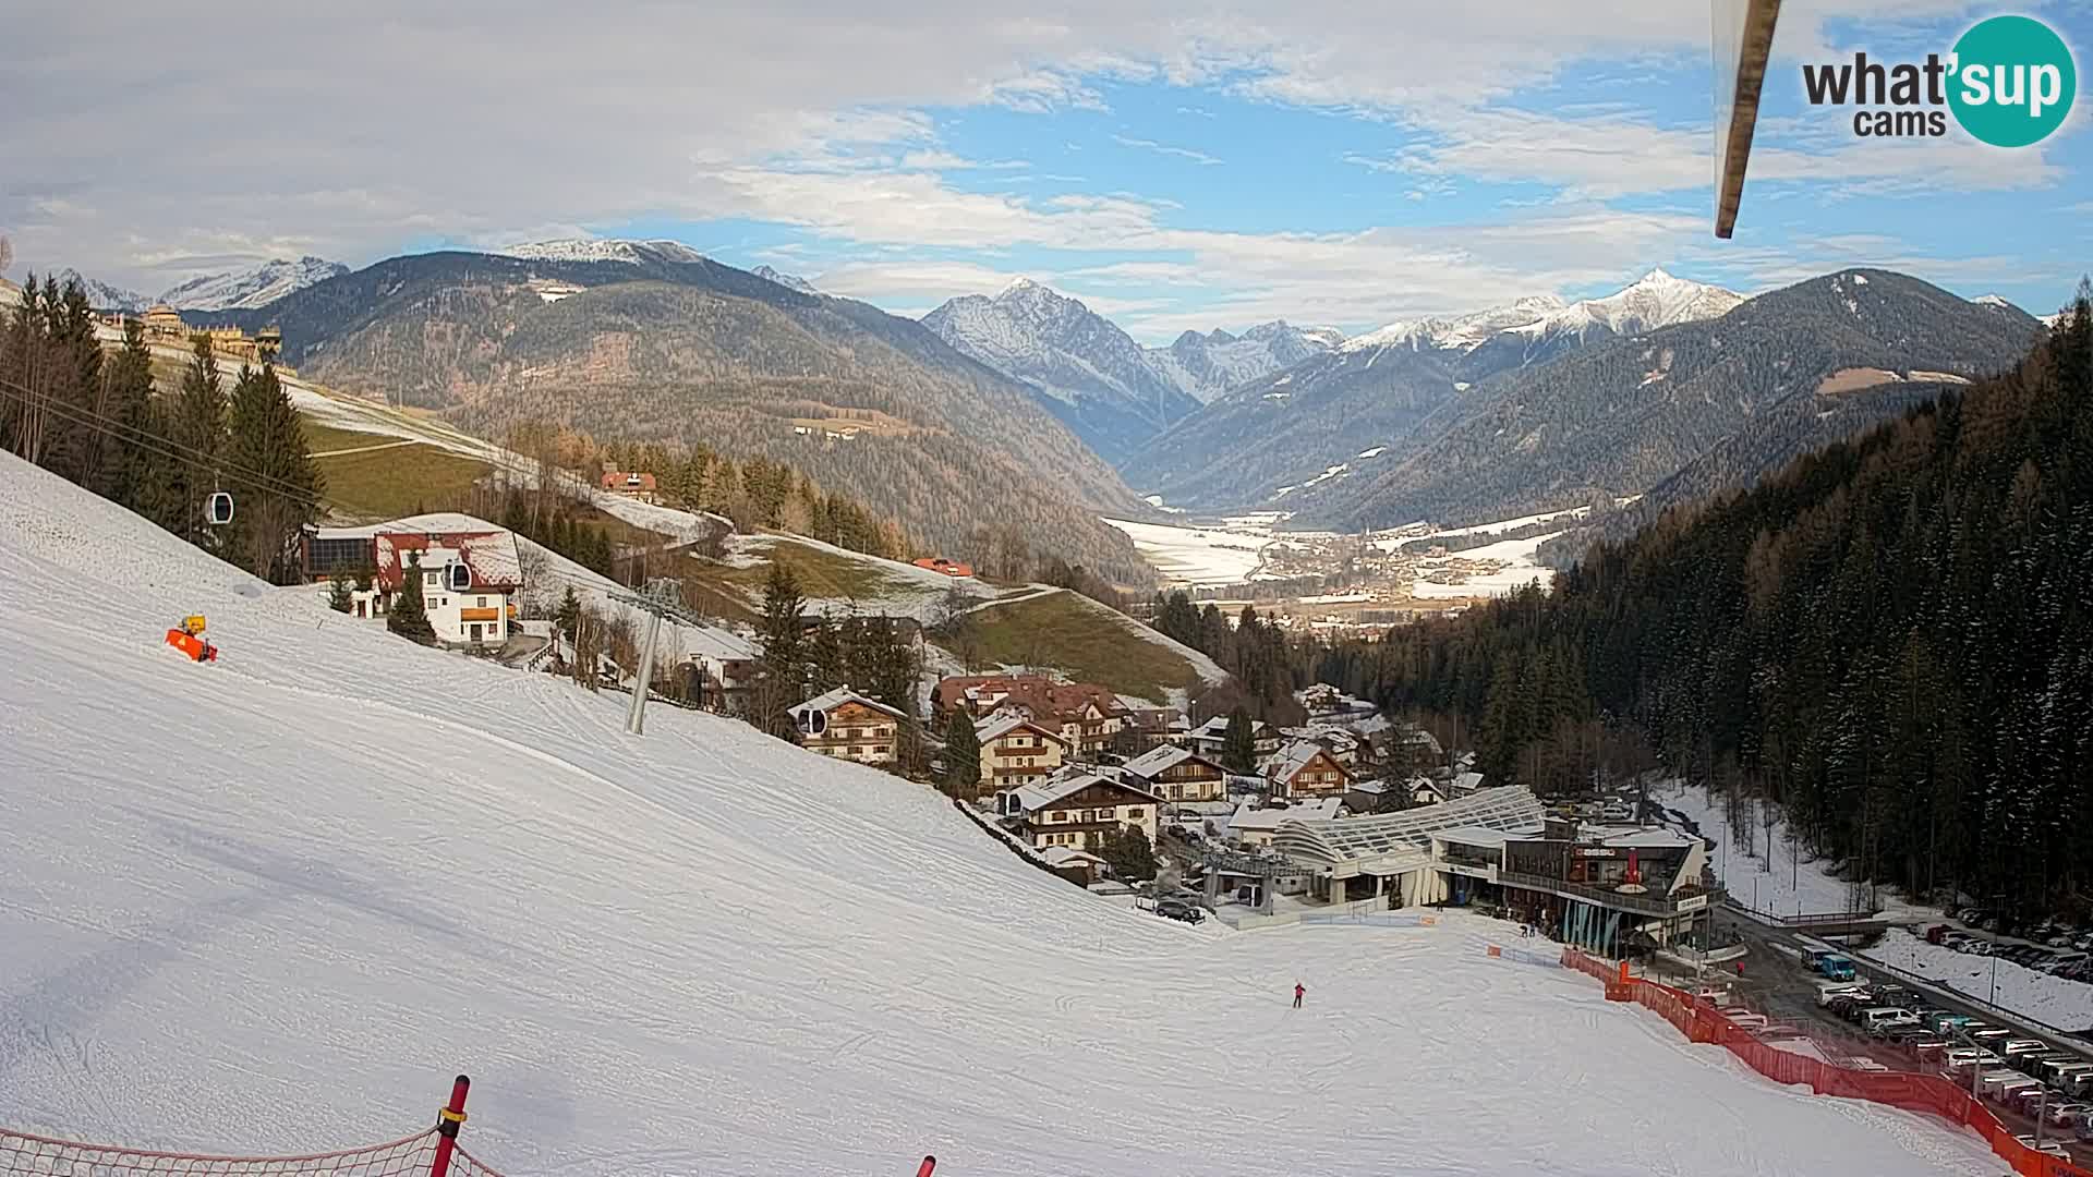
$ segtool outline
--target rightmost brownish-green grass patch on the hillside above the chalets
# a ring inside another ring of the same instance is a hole
[[[1078,593],[988,605],[971,618],[971,651],[984,662],[1055,666],[1070,679],[1153,702],[1195,676],[1180,653],[1134,632],[1141,622]]]

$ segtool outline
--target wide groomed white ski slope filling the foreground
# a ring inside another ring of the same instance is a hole
[[[216,666],[161,645],[205,612]],[[511,1175],[1997,1173],[1480,928],[1229,934],[929,790],[427,651],[0,457],[0,1123]],[[1285,993],[1300,978],[1308,1007]]]

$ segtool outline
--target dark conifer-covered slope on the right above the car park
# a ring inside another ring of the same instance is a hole
[[[1867,878],[2034,909],[2093,882],[2089,551],[2083,293],[2003,375],[1319,670],[1467,716],[1496,779],[1574,785],[1633,720]]]

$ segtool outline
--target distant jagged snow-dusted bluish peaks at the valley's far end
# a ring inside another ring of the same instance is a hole
[[[994,297],[954,297],[923,316],[954,350],[1036,390],[1105,461],[1191,417],[1220,392],[1327,350],[1340,335],[1266,323],[1241,335],[1187,331],[1143,348],[1080,299],[1030,279]]]

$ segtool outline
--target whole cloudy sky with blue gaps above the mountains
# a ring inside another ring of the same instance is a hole
[[[46,4],[0,38],[0,235],[17,281],[149,295],[268,258],[666,237],[896,314],[1030,276],[1147,343],[1656,266],[1756,293],[1873,264],[2045,314],[2093,268],[2087,98],[1993,149],[1953,119],[1863,140],[1802,96],[1802,63],[1946,52],[2003,10],[1787,0],[1718,241],[1691,0]],[[2093,6],[2011,10],[2093,61]]]

